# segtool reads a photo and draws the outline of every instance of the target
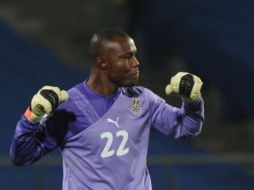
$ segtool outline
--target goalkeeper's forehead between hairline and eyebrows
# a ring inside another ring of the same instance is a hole
[[[129,37],[116,37],[113,41],[108,41],[106,46],[110,53],[115,54],[137,51],[134,40]]]

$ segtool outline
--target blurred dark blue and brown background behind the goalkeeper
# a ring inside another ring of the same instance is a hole
[[[249,0],[1,0],[0,189],[61,189],[59,151],[14,167],[10,141],[42,85],[68,89],[86,79],[88,41],[103,27],[134,38],[140,84],[168,103],[181,103],[164,94],[176,72],[192,72],[204,82],[200,136],[172,140],[151,133],[154,190],[254,189],[253,9]]]

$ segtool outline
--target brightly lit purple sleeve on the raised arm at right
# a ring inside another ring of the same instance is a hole
[[[155,129],[174,138],[197,136],[204,122],[204,101],[183,102],[181,108],[176,108],[153,94],[151,119]]]

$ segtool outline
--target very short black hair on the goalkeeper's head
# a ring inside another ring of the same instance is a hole
[[[106,48],[107,42],[112,42],[116,37],[126,37],[130,38],[130,36],[116,28],[104,28],[98,30],[90,39],[89,43],[89,54],[92,57],[97,57],[103,55]]]

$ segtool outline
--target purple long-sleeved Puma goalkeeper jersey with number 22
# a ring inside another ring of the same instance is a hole
[[[81,83],[46,122],[21,118],[11,158],[27,165],[59,146],[63,190],[151,190],[146,164],[151,128],[174,138],[192,137],[203,120],[202,99],[176,108],[143,87],[119,88],[106,98]]]

